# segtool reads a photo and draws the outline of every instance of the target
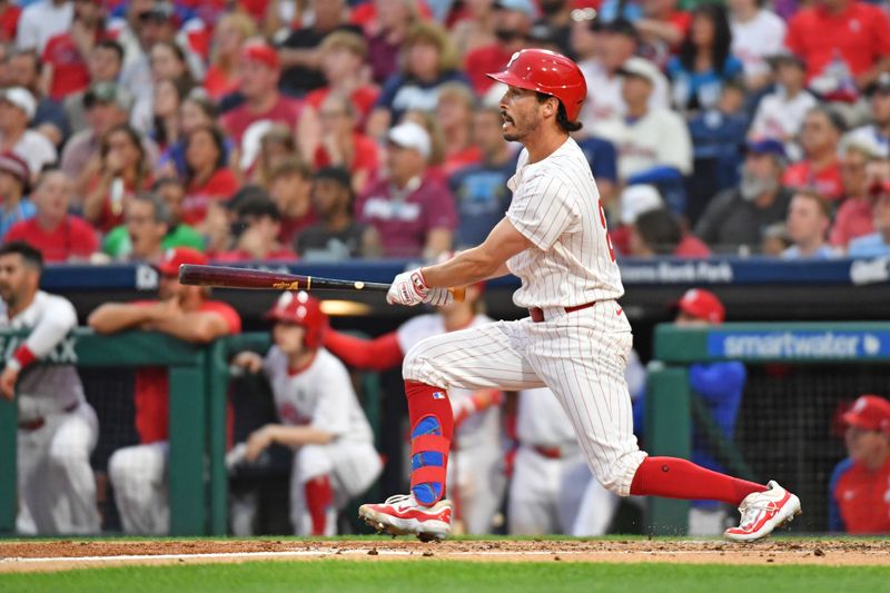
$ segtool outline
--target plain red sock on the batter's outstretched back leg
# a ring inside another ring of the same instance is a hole
[[[678,457],[646,457],[631,483],[634,496],[721,501],[734,506],[752,492],[765,490],[767,486],[719,474]]]

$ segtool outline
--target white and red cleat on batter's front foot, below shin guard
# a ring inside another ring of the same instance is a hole
[[[413,494],[396,494],[383,504],[363,504],[358,507],[358,516],[377,533],[393,536],[414,534],[424,542],[448,536],[453,512],[451,501],[443,500],[433,506],[424,506]]]

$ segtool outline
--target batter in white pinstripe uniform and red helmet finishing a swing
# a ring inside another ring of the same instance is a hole
[[[522,286],[513,302],[530,316],[432,337],[407,353],[411,493],[363,505],[359,516],[393,535],[446,537],[452,503],[443,494],[454,422],[447,391],[546,386],[607,490],[738,505],[741,523],[725,537],[765,537],[800,513],[795,495],[775,482],[763,486],[685,459],[649,457],[633,436],[624,379],[632,335],[616,302],[624,288],[590,165],[570,137],[581,128],[575,119],[587,95],[584,76],[568,58],[540,49],[514,53],[504,71],[488,76],[507,86],[504,138],[524,146],[507,181],[513,199],[506,216],[482,245],[396,276],[387,300],[445,305],[448,286],[514,274]]]

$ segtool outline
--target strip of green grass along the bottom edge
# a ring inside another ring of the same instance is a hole
[[[208,591],[345,593],[350,591],[886,591],[890,569],[877,566],[725,566],[445,561],[297,561],[134,566],[0,575],[0,591]]]

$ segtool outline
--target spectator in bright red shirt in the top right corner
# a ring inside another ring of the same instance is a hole
[[[864,90],[890,70],[890,21],[883,10],[857,0],[818,0],[801,8],[788,27],[785,45],[807,61],[807,80],[828,75],[827,91],[843,81],[828,71],[832,61],[846,65],[852,82]]]

